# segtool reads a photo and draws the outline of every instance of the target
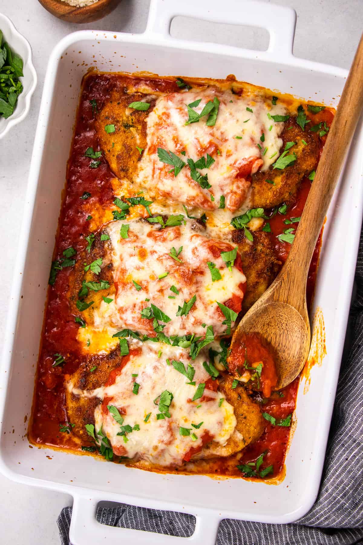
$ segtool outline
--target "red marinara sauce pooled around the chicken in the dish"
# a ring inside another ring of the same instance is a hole
[[[76,252],[87,246],[85,237],[90,234],[90,228],[87,221],[88,211],[84,207],[83,196],[85,193],[91,194],[88,203],[95,207],[107,207],[113,202],[112,180],[114,174],[110,171],[107,162],[101,157],[101,164],[98,168],[89,168],[89,159],[84,156],[84,150],[88,147],[98,148],[94,103],[92,101],[96,101],[97,108],[101,109],[104,102],[110,98],[110,93],[113,90],[122,91],[130,84],[133,84],[135,79],[141,84],[145,83],[151,86],[155,91],[179,91],[175,81],[161,78],[133,78],[132,76],[118,74],[98,73],[89,74],[84,78],[70,159],[67,165],[67,182],[59,216],[53,260],[61,259],[63,251],[69,246],[72,246]],[[330,125],[333,114],[326,110],[310,117],[312,123],[325,122]],[[325,137],[321,138],[322,144],[324,139]],[[284,263],[288,255],[290,244],[281,243],[277,237],[286,227],[297,227],[297,223],[287,226],[284,221],[301,215],[310,185],[311,181],[307,178],[304,179],[295,202],[290,205],[286,213],[277,213],[269,220],[270,237],[275,247],[276,257],[282,263]],[[309,271],[307,282],[309,302],[311,302],[315,286],[320,245],[321,237],[319,237]],[[79,450],[79,444],[73,441],[72,434],[60,433],[59,429],[60,425],[67,422],[64,375],[75,372],[87,360],[87,355],[79,350],[77,342],[79,324],[75,323],[75,316],[70,312],[69,300],[67,299],[69,274],[69,268],[59,270],[53,286],[48,289],[44,330],[36,374],[33,414],[29,424],[29,439],[35,444]],[[255,350],[257,350],[257,344],[256,341]],[[54,365],[58,353],[63,355],[65,361],[61,365]],[[250,357],[254,359],[255,355]],[[267,355],[264,354],[264,357],[267,358]],[[265,363],[264,371],[261,373],[263,395],[269,392],[270,387],[273,388],[275,380],[273,365],[268,363],[267,360]],[[279,393],[273,392],[268,399],[266,399],[266,396],[262,398],[260,393],[255,393],[255,395],[257,401],[261,403],[262,410],[272,415],[276,422],[280,423],[293,413],[297,388],[298,379]],[[207,465],[209,464],[208,467],[211,472],[216,471],[221,475],[242,476],[243,474],[236,469],[236,464],[255,462],[261,453],[266,452],[260,470],[273,465],[273,472],[268,476],[278,475],[284,464],[289,433],[290,427],[274,426],[273,423],[266,420],[266,427],[259,440],[249,445],[242,452],[242,457],[239,457],[238,461],[235,457],[231,457],[230,459],[207,462]],[[190,453],[191,455],[192,453]],[[203,473],[208,473],[208,470],[204,470]]]

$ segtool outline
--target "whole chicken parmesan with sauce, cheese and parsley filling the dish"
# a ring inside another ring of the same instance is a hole
[[[286,260],[333,116],[232,76],[85,76],[32,443],[159,472],[281,473],[298,379],[276,390],[254,334],[229,346]]]

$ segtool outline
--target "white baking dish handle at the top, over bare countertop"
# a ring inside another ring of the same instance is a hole
[[[178,15],[214,23],[266,28],[270,35],[266,53],[279,60],[292,56],[296,26],[296,11],[292,8],[258,0],[224,0],[222,4],[211,0],[151,0],[145,34],[173,40],[170,24]]]

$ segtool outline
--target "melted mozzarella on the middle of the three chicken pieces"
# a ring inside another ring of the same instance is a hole
[[[162,230],[143,220],[130,222],[128,239],[120,237],[120,222],[112,222],[108,233],[113,245],[115,305],[118,309],[116,323],[145,335],[153,334],[151,320],[141,318],[141,310],[156,305],[169,318],[165,335],[205,335],[205,326],[213,325],[214,334],[223,334],[227,326],[217,301],[234,299],[241,304],[246,278],[241,270],[226,267],[220,252],[230,251],[234,245],[208,239],[192,228],[192,222],[180,227]],[[171,257],[172,248],[177,259]],[[178,261],[180,260],[180,261]],[[207,263],[214,263],[221,279],[212,281]],[[167,276],[163,276],[167,273]],[[137,290],[133,281],[142,289]],[[171,290],[171,287],[176,289]],[[175,291],[179,293],[175,293]],[[186,316],[176,316],[184,302],[196,296],[196,301]],[[150,301],[145,301],[150,299]]]

